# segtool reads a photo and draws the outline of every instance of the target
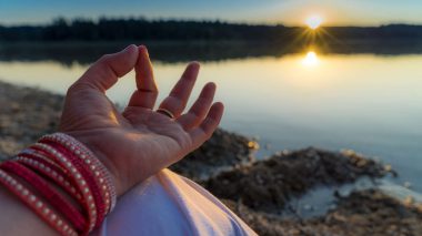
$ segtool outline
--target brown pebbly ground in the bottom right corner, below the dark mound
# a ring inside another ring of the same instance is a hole
[[[241,202],[228,206],[259,235],[422,235],[422,211],[408,207],[375,189],[353,192],[340,198],[326,215],[283,218],[254,211]]]

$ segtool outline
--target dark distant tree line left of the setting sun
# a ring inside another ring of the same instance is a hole
[[[221,21],[145,19],[56,19],[47,25],[0,25],[1,41],[117,41],[117,40],[271,40],[283,25],[248,25]]]

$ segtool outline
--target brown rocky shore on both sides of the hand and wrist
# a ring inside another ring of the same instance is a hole
[[[62,101],[60,95],[0,82],[0,158],[54,132]],[[396,173],[352,151],[310,147],[257,161],[254,146],[245,136],[219,130],[171,168],[199,182],[260,235],[422,235],[421,205],[400,202],[376,188],[345,196],[334,192],[330,197],[335,204],[322,215],[285,214],[292,201],[319,187]]]

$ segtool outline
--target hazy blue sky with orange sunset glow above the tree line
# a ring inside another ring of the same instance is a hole
[[[310,14],[330,25],[422,24],[422,0],[0,0],[0,24],[48,22],[58,16],[303,24]]]

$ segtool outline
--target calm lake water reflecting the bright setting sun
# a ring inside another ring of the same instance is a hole
[[[153,57],[153,54],[152,54]],[[184,62],[154,61],[162,99]],[[57,93],[87,69],[48,58],[0,61],[0,80]],[[265,156],[284,148],[352,148],[392,164],[422,192],[422,54],[319,54],[304,51],[202,63],[199,86],[217,82],[222,127],[260,138]],[[108,95],[125,104],[133,74]]]

